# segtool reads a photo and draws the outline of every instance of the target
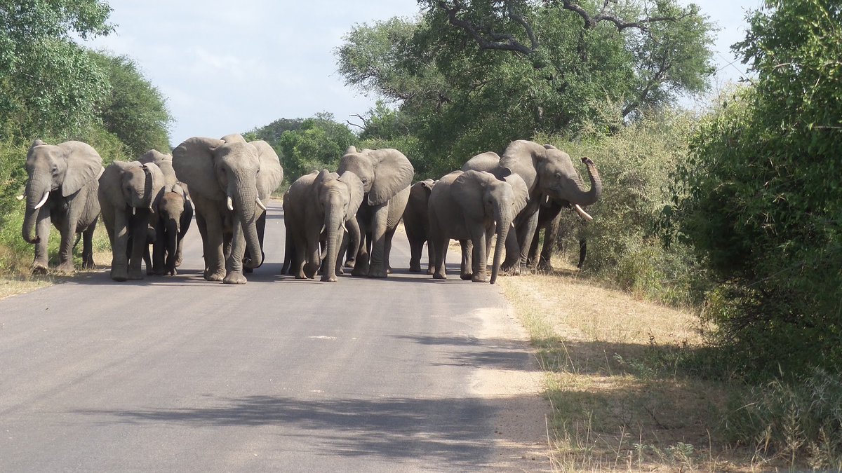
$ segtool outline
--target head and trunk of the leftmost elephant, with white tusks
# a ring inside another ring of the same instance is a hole
[[[102,158],[93,147],[81,141],[66,141],[46,145],[35,140],[26,156],[26,213],[22,229],[24,241],[37,243],[32,237],[40,208],[50,193],[61,190],[61,197],[69,197],[93,182],[102,173]]]

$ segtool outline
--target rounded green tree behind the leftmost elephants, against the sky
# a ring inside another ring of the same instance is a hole
[[[110,93],[98,106],[104,128],[125,143],[133,158],[150,149],[168,152],[168,126],[173,117],[161,91],[143,77],[130,57],[91,54],[111,85]]]

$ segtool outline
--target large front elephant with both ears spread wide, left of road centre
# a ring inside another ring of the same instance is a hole
[[[257,268],[263,263],[258,219],[266,210],[263,200],[269,199],[284,174],[278,155],[265,141],[249,143],[238,135],[225,138],[189,138],[173,150],[173,167],[179,180],[192,190],[200,214],[226,208],[232,215],[233,266],[226,268],[223,280],[242,284],[245,283],[242,266]],[[200,201],[216,205],[216,209],[200,208]],[[221,232],[221,229],[209,231]],[[240,256],[243,252],[248,252],[248,258]],[[207,254],[205,258],[209,258]],[[211,264],[214,265],[219,266],[216,270],[221,270],[221,262]]]

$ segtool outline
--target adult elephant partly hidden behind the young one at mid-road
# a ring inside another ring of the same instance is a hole
[[[385,278],[392,237],[409,199],[415,170],[401,151],[391,148],[357,151],[350,146],[339,160],[338,173],[350,171],[363,183],[364,198],[357,211],[365,243],[354,258],[354,276]]]

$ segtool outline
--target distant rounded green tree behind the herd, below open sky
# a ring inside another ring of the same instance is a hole
[[[321,113],[302,120],[297,130],[285,130],[277,141],[267,141],[278,151],[285,179],[291,183],[312,171],[335,170],[356,136],[333,120],[333,114]]]

